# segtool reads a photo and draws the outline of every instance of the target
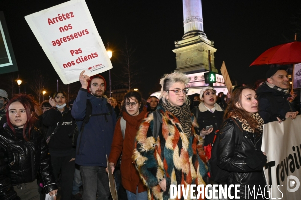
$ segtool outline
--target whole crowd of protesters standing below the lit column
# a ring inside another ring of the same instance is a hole
[[[216,184],[209,164],[216,138],[216,165],[230,172],[225,184],[240,184],[244,198],[244,185],[266,184],[263,124],[299,114],[283,66],[254,88],[226,95],[204,87],[190,98],[189,79],[174,72],[160,80],[160,98],[144,101],[130,91],[120,105],[104,95],[101,75],[83,71],[79,80],[69,105],[64,91],[38,105],[30,95],[9,99],[0,89],[0,199],[111,199],[107,159],[118,199],[169,199],[172,184]]]

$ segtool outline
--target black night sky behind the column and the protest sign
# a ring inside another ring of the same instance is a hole
[[[4,12],[20,78],[31,83],[36,69],[49,78],[47,90],[56,91],[58,75],[46,57],[24,16],[65,1],[0,1]],[[176,69],[174,41],[184,35],[182,1],[86,0],[105,47],[113,49],[111,75],[121,71],[119,50],[127,40],[136,47],[133,68],[143,69],[135,87],[147,98],[160,89],[159,79]],[[253,84],[264,78],[267,66],[249,65],[270,47],[301,40],[301,1],[202,1],[204,32],[214,41],[215,66],[225,61],[232,81]],[[299,17],[299,27],[292,24]],[[299,30],[297,30],[299,28]],[[109,72],[102,75],[109,85]],[[6,75],[0,75],[2,81]],[[59,80],[60,81],[60,80]],[[3,83],[1,84],[3,85]],[[60,87],[63,84],[60,81]],[[75,90],[79,82],[71,84]],[[3,87],[3,86],[2,86]],[[5,88],[3,88],[5,89]]]

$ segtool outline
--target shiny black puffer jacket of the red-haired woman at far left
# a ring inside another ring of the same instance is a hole
[[[16,137],[7,123],[0,128],[0,151],[4,152],[4,161],[12,185],[32,182],[40,172],[45,192],[49,193],[57,189],[52,175],[48,147],[39,129],[33,127],[30,140],[25,141],[22,136],[23,129],[14,128]],[[5,169],[1,168],[1,170]]]

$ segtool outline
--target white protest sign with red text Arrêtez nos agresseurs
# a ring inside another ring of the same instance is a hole
[[[25,19],[64,84],[112,68],[84,0],[72,0],[25,16]],[[42,63],[41,63],[42,65]]]

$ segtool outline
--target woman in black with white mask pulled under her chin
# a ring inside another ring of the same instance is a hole
[[[49,99],[52,107],[44,112],[43,124],[48,126],[48,133],[53,133],[48,146],[56,180],[61,171],[61,198],[71,200],[76,153],[71,135],[74,133],[76,123],[66,102],[68,102],[66,93],[56,92],[53,98]]]

